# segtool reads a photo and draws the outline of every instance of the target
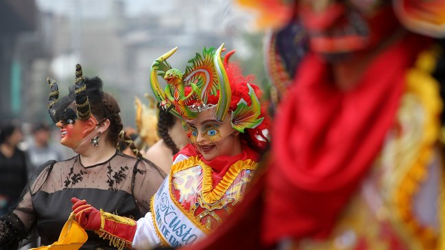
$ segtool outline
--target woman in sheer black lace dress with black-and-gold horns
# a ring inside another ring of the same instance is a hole
[[[56,81],[48,79],[48,111],[60,129],[60,143],[77,155],[46,162],[29,179],[14,210],[0,216],[0,249],[25,245],[33,229],[42,245],[56,242],[69,221],[73,196],[91,200],[97,208],[141,218],[149,211],[149,197],[165,178],[132,145],[123,131],[117,99],[102,90],[102,80],[84,77],[80,64],[75,69],[75,84],[60,99]],[[117,150],[121,140],[138,158]],[[82,249],[117,247],[89,234]]]

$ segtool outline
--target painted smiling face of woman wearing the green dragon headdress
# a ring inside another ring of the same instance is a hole
[[[204,110],[194,120],[183,123],[189,139],[206,160],[213,160],[219,155],[241,153],[238,133],[230,125],[230,116],[223,123],[216,121],[214,110]]]

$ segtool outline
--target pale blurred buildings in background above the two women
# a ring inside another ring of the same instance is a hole
[[[225,42],[261,85],[262,34],[247,13],[226,0],[2,0],[0,117],[49,122],[46,77],[66,95],[80,63],[117,97],[124,125],[134,125],[134,97],[151,93],[152,62],[176,46],[169,62],[184,71],[195,52]]]

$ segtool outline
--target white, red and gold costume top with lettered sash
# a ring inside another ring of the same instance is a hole
[[[143,249],[152,242],[189,245],[213,232],[241,201],[257,159],[258,154],[246,146],[240,155],[208,162],[188,145],[176,155],[169,176],[154,195],[152,212],[138,221],[133,247]],[[215,185],[216,178],[220,180]]]

